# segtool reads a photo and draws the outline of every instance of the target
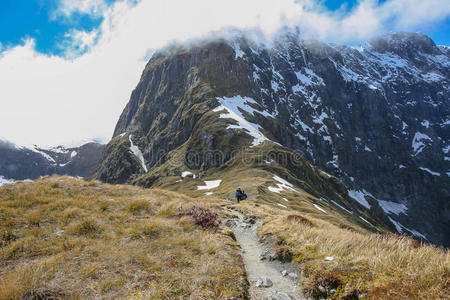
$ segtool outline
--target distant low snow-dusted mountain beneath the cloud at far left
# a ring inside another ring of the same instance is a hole
[[[45,149],[0,140],[0,176],[15,180],[51,174],[88,177],[98,167],[103,148],[102,144],[90,142],[79,147]]]

